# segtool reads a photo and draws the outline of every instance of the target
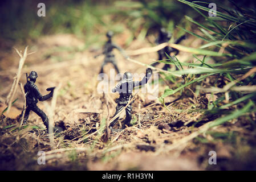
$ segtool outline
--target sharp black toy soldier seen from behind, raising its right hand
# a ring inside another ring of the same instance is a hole
[[[123,76],[123,80],[119,82],[119,84],[116,85],[115,88],[112,89],[112,92],[119,92],[120,97],[117,98],[116,103],[116,114],[118,114],[129,102],[129,100],[132,99],[132,90],[136,86],[141,86],[147,84],[149,78],[152,76],[152,69],[147,68],[146,75],[141,81],[132,81],[132,73],[125,72]],[[124,124],[127,126],[130,126],[130,121],[132,119],[132,103],[129,104],[125,108],[125,121]],[[115,117],[115,115],[113,117]],[[113,126],[118,121],[119,117],[117,117],[110,125],[111,131],[113,130]],[[124,126],[125,126],[124,125]],[[115,131],[115,130],[114,130]]]

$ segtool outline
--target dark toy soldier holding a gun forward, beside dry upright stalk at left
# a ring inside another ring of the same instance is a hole
[[[51,98],[55,87],[47,88],[46,90],[51,92],[45,96],[42,96],[42,94],[38,90],[38,87],[35,85],[35,81],[37,77],[38,77],[37,73],[35,71],[31,71],[31,73],[29,74],[29,77],[27,77],[27,82],[24,85],[24,90],[26,93],[26,110],[22,111],[22,114],[25,111],[23,122],[24,123],[27,122],[30,111],[33,111],[34,113],[39,115],[39,117],[42,118],[43,124],[46,126],[46,129],[48,132],[49,122],[48,122],[47,115],[42,110],[40,110],[38,106],[36,106],[36,104],[38,100],[46,101],[49,98]],[[19,115],[20,118],[22,117],[22,114]]]

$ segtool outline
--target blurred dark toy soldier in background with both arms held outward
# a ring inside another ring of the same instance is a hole
[[[128,56],[125,54],[124,50],[121,47],[119,47],[116,44],[112,43],[112,36],[113,36],[113,32],[112,31],[108,31],[106,36],[108,38],[108,41],[107,41],[107,43],[105,43],[104,51],[99,54],[99,55],[101,55],[101,54],[105,55],[104,62],[101,65],[101,68],[100,68],[100,73],[103,73],[103,68],[104,68],[105,64],[107,64],[107,63],[112,63],[113,66],[116,69],[116,72],[119,73],[119,69],[118,69],[118,67],[116,65],[115,55],[112,52],[113,49],[114,48],[118,49],[122,53],[122,55],[125,57],[125,59],[127,59]],[[96,58],[99,55],[96,55],[94,57]]]

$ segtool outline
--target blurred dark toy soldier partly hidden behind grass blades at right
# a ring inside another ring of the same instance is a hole
[[[162,44],[162,43],[166,43],[169,42],[170,38],[172,38],[172,34],[170,34],[170,32],[166,31],[165,28],[161,28],[159,31],[159,36],[156,39],[156,44]],[[178,44],[180,43],[183,39],[185,39],[186,36],[183,35],[180,38],[178,38],[174,43]],[[159,60],[163,60],[163,59],[169,59],[166,55],[165,52],[170,56],[170,53],[175,52],[175,55],[178,55],[179,51],[178,49],[166,46],[165,48],[160,49],[159,51],[157,51],[158,55],[159,55]],[[172,57],[173,58],[173,57]],[[173,58],[174,59],[174,58]],[[153,63],[152,66],[155,67],[157,64],[159,64],[159,62]],[[165,64],[164,67],[162,69],[167,70],[168,68],[170,68],[170,64]]]

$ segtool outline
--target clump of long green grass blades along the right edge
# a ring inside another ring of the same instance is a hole
[[[186,75],[189,80],[176,89],[166,89],[160,97],[170,96],[189,85],[197,84],[197,93],[206,92],[216,94],[218,99],[208,104],[205,114],[222,114],[222,117],[210,123],[209,127],[221,125],[241,115],[255,113],[256,98],[256,11],[250,8],[217,5],[216,17],[209,17],[206,2],[189,2],[178,0],[194,9],[204,21],[198,22],[190,16],[186,20],[196,25],[197,29],[189,34],[204,40],[205,44],[199,48],[173,45],[174,48],[193,53],[196,63],[182,63],[177,58],[162,60],[165,64],[173,64],[179,70],[172,72]],[[203,35],[198,35],[200,32]],[[172,46],[172,45],[171,45]],[[197,55],[204,55],[199,59]],[[215,63],[207,63],[207,60]],[[188,69],[181,69],[188,67]],[[213,87],[202,86],[206,78],[212,79]],[[221,81],[220,81],[221,80]]]

